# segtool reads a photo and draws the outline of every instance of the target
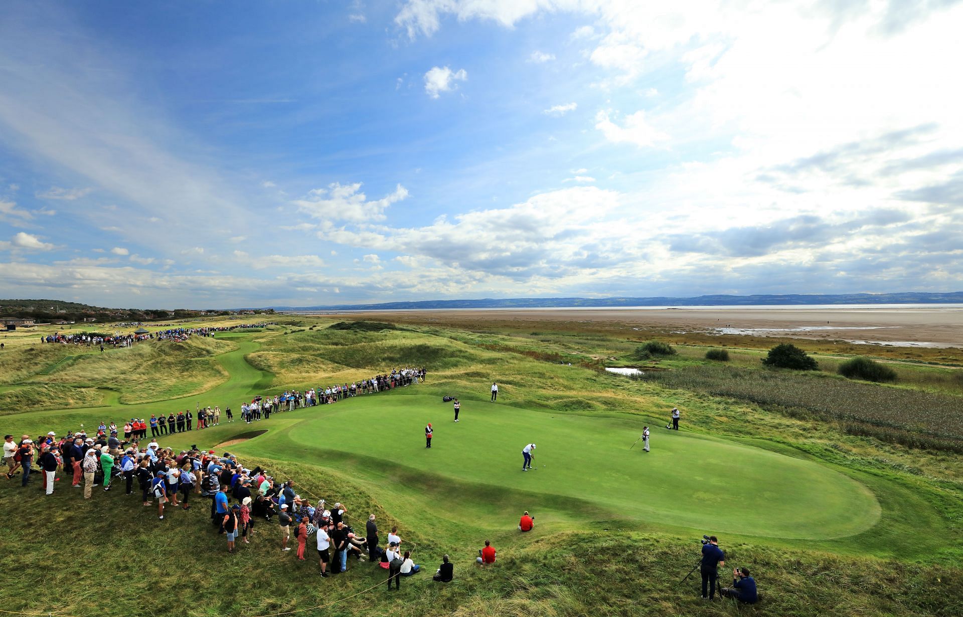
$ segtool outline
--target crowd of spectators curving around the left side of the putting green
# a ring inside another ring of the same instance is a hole
[[[424,369],[393,370],[351,386],[338,386],[332,390],[332,394],[323,398],[329,397],[333,402],[363,393],[374,394],[403,387],[417,383],[419,378],[424,380],[425,373]],[[286,392],[272,398],[270,406],[283,412],[320,404],[322,400],[307,396],[311,392],[302,396],[300,393]],[[257,402],[259,405],[268,405],[268,400],[261,398]],[[262,410],[268,408],[260,407]],[[269,415],[270,411],[264,414],[265,419]],[[257,419],[255,417],[253,420]],[[179,432],[181,428],[194,429],[190,411],[176,416],[171,414],[163,424],[158,421],[151,418],[150,427],[155,435]],[[207,408],[199,409],[197,421],[197,428],[219,424],[220,414],[213,411],[208,414]],[[7,478],[13,479],[16,472],[22,470],[21,486],[26,487],[31,474],[39,473],[41,490],[50,496],[54,493],[55,483],[61,479],[57,477],[60,471],[62,477],[71,480],[73,488],[83,488],[84,499],[87,500],[93,499],[94,488],[102,488],[106,492],[123,486],[127,495],[137,494],[134,488],[136,479],[143,505],[152,506],[156,503],[159,520],[164,520],[177,507],[190,509],[192,496],[210,499],[212,527],[217,527],[218,532],[226,536],[228,552],[237,550],[236,541],[239,538],[244,544],[250,544],[255,523],[272,524],[276,521],[280,550],[292,550],[293,547],[288,544],[294,535],[292,544],[297,544],[299,560],[307,560],[307,541],[310,536],[315,536],[323,577],[327,577],[329,572],[338,574],[346,571],[349,557],[354,557],[358,562],[370,560],[387,570],[389,589],[392,582],[398,589],[402,577],[421,570],[421,566],[412,560],[411,550],[402,551],[401,545],[407,541],[398,536],[397,527],[392,527],[386,543],[381,544],[374,514],[364,522],[362,535],[351,527],[348,510],[340,502],[335,502],[329,508],[323,499],[313,502],[302,498],[295,489],[294,480],[279,482],[267,470],[259,467],[247,469],[229,452],[224,451],[219,456],[215,450],[199,450],[195,446],[192,450],[175,452],[170,448],[162,448],[156,438],[142,447],[139,440],[146,433],[143,422],[124,424],[124,441],[118,438],[118,432],[117,424],[101,422],[94,436],[88,435],[83,428],[76,432],[68,431],[63,437],[58,437],[51,430],[46,435],[40,435],[36,442],[29,435],[23,435],[19,442],[15,442],[13,436],[7,436],[4,445],[4,458],[9,470]],[[236,501],[233,505],[232,499]],[[531,529],[531,521],[526,512],[519,528]],[[413,549],[413,543],[410,544]],[[485,547],[479,551],[479,555],[477,561],[482,565],[495,562],[495,549],[488,541],[485,541]],[[433,578],[447,582],[453,577],[454,565],[446,554]]]

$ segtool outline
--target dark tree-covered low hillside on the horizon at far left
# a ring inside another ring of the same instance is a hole
[[[83,321],[156,321],[231,315],[237,311],[203,311],[193,309],[117,309],[91,306],[64,300],[4,300],[0,299],[0,317],[34,319],[38,322]],[[273,312],[271,309],[262,312]]]

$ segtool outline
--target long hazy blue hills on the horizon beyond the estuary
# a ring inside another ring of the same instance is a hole
[[[404,309],[566,308],[602,306],[785,306],[813,304],[963,304],[963,292],[899,294],[785,294],[696,297],[507,297],[423,300],[333,306],[273,306],[277,311],[397,311]]]

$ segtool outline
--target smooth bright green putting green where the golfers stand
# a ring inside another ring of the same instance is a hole
[[[292,423],[294,416],[303,420]],[[539,502],[539,496],[570,497],[592,510],[589,519],[617,516],[803,539],[859,533],[880,516],[866,487],[818,463],[664,427],[654,427],[652,451],[646,453],[641,443],[630,450],[638,430],[625,421],[553,417],[466,401],[455,424],[450,404],[397,394],[355,398],[277,419],[282,418],[286,426],[261,424],[257,428],[269,428],[267,434],[232,450],[261,456],[272,452],[321,465],[327,457],[331,467],[352,476],[409,468],[424,476],[406,476],[412,494],[429,490],[432,478],[440,476],[463,483],[468,503],[476,499],[479,485],[519,491],[525,501],[512,514],[534,509],[530,504]],[[424,440],[428,422],[435,435],[430,450]],[[536,471],[523,473],[521,450],[530,442],[537,445]],[[422,481],[425,486],[417,486]],[[425,507],[432,507],[430,499]],[[443,511],[446,506],[433,507]],[[480,504],[479,516],[483,511]]]

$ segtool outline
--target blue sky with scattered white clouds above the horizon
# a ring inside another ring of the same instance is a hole
[[[960,0],[11,0],[0,297],[960,291],[960,32]]]

